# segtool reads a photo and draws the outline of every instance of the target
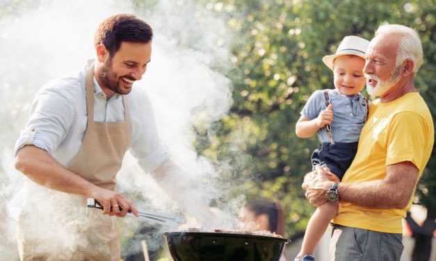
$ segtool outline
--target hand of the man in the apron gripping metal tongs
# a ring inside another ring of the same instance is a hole
[[[127,212],[131,211],[136,217],[139,217],[134,204],[118,192],[95,186],[95,190],[90,197],[96,199],[102,205],[102,214],[125,217]]]

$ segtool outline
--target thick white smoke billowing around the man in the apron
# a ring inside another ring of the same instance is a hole
[[[222,163],[197,155],[195,128],[208,129],[232,105],[231,83],[218,71],[232,68],[225,24],[206,8],[192,1],[8,1],[0,4],[0,260],[17,259],[15,222],[6,216],[6,205],[22,185],[23,175],[13,167],[13,146],[24,128],[35,92],[47,81],[85,65],[94,58],[92,40],[102,20],[127,12],[143,17],[154,28],[152,62],[135,87],[149,94],[161,140],[172,160],[194,180],[197,196],[213,201],[229,192],[220,180]],[[145,6],[145,8],[138,8]],[[219,70],[218,70],[219,69]],[[170,180],[177,184],[177,180]],[[223,191],[223,190],[227,191]],[[129,195],[137,208],[184,214],[179,206],[143,174],[127,155],[118,175],[118,190]],[[232,228],[241,197],[220,202],[220,218]],[[200,210],[199,210],[200,211]],[[188,216],[188,221],[192,221]],[[195,224],[195,221],[193,221]],[[124,229],[123,255],[140,251],[141,239],[150,249],[162,244],[162,230],[133,218],[120,221]],[[134,237],[131,231],[147,231]]]

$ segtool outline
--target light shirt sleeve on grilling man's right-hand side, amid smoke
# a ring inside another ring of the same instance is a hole
[[[144,93],[129,101],[131,106],[132,143],[130,153],[146,173],[152,173],[170,158],[167,146],[159,138],[154,112],[148,96]]]

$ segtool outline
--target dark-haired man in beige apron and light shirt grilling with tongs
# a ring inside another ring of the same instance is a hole
[[[185,192],[181,207],[187,197],[202,203],[186,196],[186,177],[168,183],[180,171],[159,140],[150,101],[133,87],[150,63],[152,36],[134,15],[108,17],[95,35],[95,60],[36,94],[15,146],[15,167],[29,178],[15,199],[21,260],[120,260],[115,217],[138,216],[115,192],[128,149],[163,189]],[[87,208],[87,198],[103,211]]]

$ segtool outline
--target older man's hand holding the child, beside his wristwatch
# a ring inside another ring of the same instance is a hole
[[[327,167],[316,166],[316,176],[314,177],[305,177],[305,183],[303,183],[303,187],[306,189],[306,198],[309,199],[309,202],[312,205],[322,205],[326,201],[328,201],[327,196],[325,195],[327,191],[332,187],[333,182],[329,180],[329,176],[333,174],[330,172],[330,169]],[[307,174],[313,175],[313,172]]]

